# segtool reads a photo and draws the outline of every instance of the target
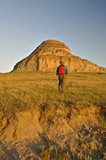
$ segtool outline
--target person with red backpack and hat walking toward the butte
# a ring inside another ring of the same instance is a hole
[[[56,71],[56,80],[59,80],[59,84],[58,84],[59,92],[64,91],[64,81],[67,78],[67,74],[68,74],[68,69],[64,65],[64,61],[61,60],[60,65],[57,67],[57,71]]]

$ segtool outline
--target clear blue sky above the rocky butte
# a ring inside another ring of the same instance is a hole
[[[0,72],[48,39],[106,67],[106,0],[0,0]]]

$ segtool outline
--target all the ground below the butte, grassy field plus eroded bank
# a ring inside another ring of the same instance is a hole
[[[0,74],[0,159],[104,160],[106,74]]]

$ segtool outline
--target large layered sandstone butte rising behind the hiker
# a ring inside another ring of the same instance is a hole
[[[41,43],[28,57],[18,62],[13,71],[56,71],[61,59],[70,72],[106,72],[106,68],[72,55],[63,42],[56,40]]]

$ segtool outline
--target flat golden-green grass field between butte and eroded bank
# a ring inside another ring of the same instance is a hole
[[[106,105],[105,73],[70,73],[64,93],[51,72],[0,74],[0,111],[16,112],[41,104]]]

